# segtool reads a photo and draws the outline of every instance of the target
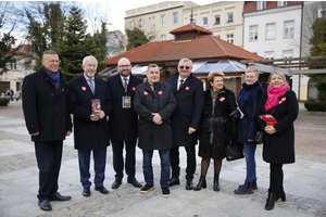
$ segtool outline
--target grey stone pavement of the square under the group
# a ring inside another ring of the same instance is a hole
[[[112,190],[114,171],[112,151],[108,149],[106,195],[93,191],[82,195],[77,152],[73,136],[64,141],[60,174],[63,195],[72,195],[68,202],[51,202],[53,210],[43,212],[37,205],[38,169],[34,144],[25,128],[21,102],[0,107],[0,216],[324,216],[326,217],[326,114],[306,112],[300,103],[296,125],[296,164],[284,166],[286,202],[276,202],[271,212],[264,209],[268,188],[268,164],[262,159],[262,146],[256,150],[259,190],[251,195],[236,195],[234,190],[243,182],[244,159],[223,162],[221,192],[214,192],[213,165],[208,173],[208,188],[199,192],[185,190],[185,151],[180,149],[181,183],[171,188],[171,196],[163,197],[160,188],[160,161],[153,158],[155,190],[148,194],[126,183]],[[137,149],[137,179],[143,183],[141,151]],[[91,171],[93,176],[93,171]],[[197,183],[200,176],[198,157]]]

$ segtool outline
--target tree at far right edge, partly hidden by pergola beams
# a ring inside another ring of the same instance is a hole
[[[326,18],[316,18],[312,25],[312,31],[313,37],[310,39],[312,44],[310,49],[311,55],[326,55]],[[317,84],[318,100],[326,101],[326,74],[309,75],[309,77]]]

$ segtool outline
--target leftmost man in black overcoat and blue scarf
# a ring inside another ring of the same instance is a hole
[[[39,169],[38,205],[51,210],[50,201],[67,201],[71,196],[58,193],[58,178],[65,136],[72,132],[67,112],[67,88],[59,72],[59,56],[45,51],[42,66],[27,75],[23,82],[23,111]]]

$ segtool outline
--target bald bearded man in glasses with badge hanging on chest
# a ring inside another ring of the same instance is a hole
[[[138,115],[134,111],[133,100],[136,86],[141,84],[142,79],[131,75],[131,64],[126,58],[120,59],[117,71],[117,75],[108,78],[113,100],[113,110],[109,117],[113,168],[115,170],[115,181],[112,183],[112,189],[117,189],[122,184],[124,165],[128,176],[127,182],[136,188],[141,188],[141,184],[135,178]],[[123,158],[124,144],[126,145],[125,164]]]

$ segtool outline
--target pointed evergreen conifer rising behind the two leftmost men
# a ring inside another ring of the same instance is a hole
[[[61,60],[61,72],[66,81],[82,73],[82,60],[86,55],[93,55],[100,60],[100,48],[93,38],[86,34],[87,25],[82,17],[82,10],[72,7],[63,26],[62,38],[57,52]]]

